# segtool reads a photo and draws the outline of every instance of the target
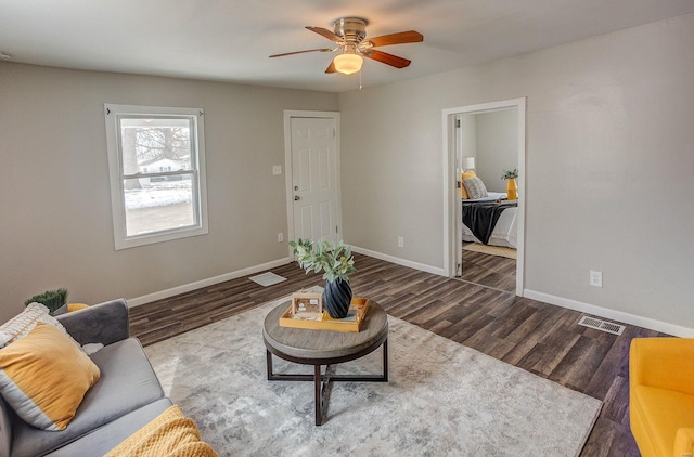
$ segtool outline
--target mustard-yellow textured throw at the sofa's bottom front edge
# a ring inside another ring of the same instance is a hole
[[[197,426],[178,405],[169,406],[150,423],[128,436],[104,457],[217,457],[200,441]]]

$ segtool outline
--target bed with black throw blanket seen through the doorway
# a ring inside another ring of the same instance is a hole
[[[463,200],[462,239],[464,243],[516,249],[517,201],[503,203],[506,194],[490,192],[485,198]]]

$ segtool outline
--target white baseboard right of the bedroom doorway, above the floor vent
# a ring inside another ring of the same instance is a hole
[[[580,301],[556,297],[549,293],[537,292],[535,290],[525,289],[523,296],[532,300],[542,301],[544,303],[556,304],[557,306],[568,308],[569,310],[579,311],[581,313],[591,314],[597,317],[604,317],[626,324],[637,325],[639,327],[648,328],[651,330],[660,331],[663,334],[672,335],[682,338],[694,338],[694,328],[682,327],[680,325],[670,324],[663,321],[643,317],[624,311],[611,310],[608,308],[596,306],[594,304],[583,303]]]

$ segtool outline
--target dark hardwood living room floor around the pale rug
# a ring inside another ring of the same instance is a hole
[[[577,325],[581,313],[357,254],[356,296],[391,315],[604,402],[581,456],[638,456],[629,430],[628,353],[634,337],[663,336],[627,325],[621,336]],[[242,277],[130,310],[143,344],[241,313],[303,287],[322,285],[296,264],[288,280],[260,287]]]

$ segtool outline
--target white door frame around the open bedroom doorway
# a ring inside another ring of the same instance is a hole
[[[516,250],[516,296],[523,297],[525,289],[525,199],[526,199],[526,97],[503,100],[499,102],[480,103],[442,112],[444,126],[444,272],[448,277],[455,276],[454,249],[457,245],[458,208],[455,193],[460,177],[455,169],[455,116],[462,114],[488,113],[498,109],[516,108],[518,113],[518,246]]]

